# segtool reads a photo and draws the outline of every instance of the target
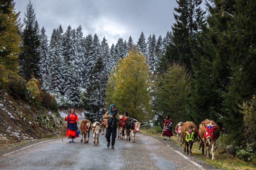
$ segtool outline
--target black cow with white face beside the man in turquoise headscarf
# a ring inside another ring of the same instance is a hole
[[[135,142],[135,134],[140,131],[140,126],[143,123],[138,122],[136,119],[127,118],[125,122],[125,139],[128,141],[127,136],[129,136],[129,141],[131,140],[130,132],[132,134],[132,142]]]

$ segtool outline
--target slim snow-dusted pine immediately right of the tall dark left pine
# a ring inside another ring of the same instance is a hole
[[[42,78],[42,88],[46,91],[49,90],[49,82],[48,75],[49,75],[49,66],[50,66],[50,58],[49,58],[49,49],[48,49],[48,37],[45,34],[44,27],[41,29],[40,32],[40,46],[39,46],[39,66],[40,66],[40,75]]]

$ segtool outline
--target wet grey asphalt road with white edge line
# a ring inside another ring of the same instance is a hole
[[[8,170],[137,170],[169,169],[196,170],[215,168],[203,160],[183,154],[176,142],[136,133],[135,142],[117,140],[115,149],[107,147],[100,134],[99,145],[94,146],[92,133],[89,143],[81,143],[81,135],[68,143],[68,139],[51,139],[1,153],[0,169]]]

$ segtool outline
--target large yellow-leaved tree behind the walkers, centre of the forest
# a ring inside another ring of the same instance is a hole
[[[106,108],[109,110],[108,107],[113,103],[119,114],[127,111],[131,118],[138,121],[151,119],[150,78],[146,58],[133,47],[110,74]]]

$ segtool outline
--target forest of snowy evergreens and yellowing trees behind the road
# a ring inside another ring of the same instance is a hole
[[[13,0],[1,0],[1,92],[53,110],[82,107],[91,121],[115,103],[146,128],[162,127],[166,114],[174,124],[208,118],[227,145],[251,144],[255,154],[256,1],[176,1],[163,37],[141,30],[137,42],[108,44],[81,26],[48,37],[31,1],[21,19]]]

